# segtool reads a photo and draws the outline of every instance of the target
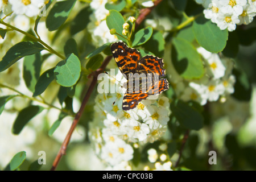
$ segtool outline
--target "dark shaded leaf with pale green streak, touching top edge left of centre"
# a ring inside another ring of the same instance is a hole
[[[49,31],[57,30],[67,20],[76,0],[56,2],[46,17],[46,27]]]

